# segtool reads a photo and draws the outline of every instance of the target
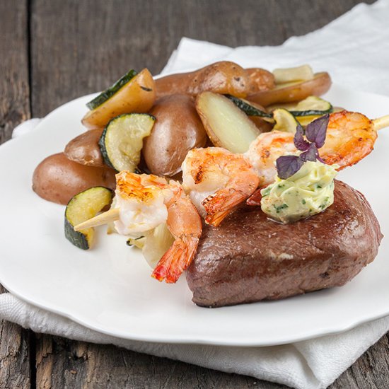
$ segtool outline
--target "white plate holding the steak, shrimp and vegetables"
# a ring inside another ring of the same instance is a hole
[[[335,105],[369,117],[389,113],[389,98],[333,86]],[[341,288],[281,301],[216,309],[192,303],[185,277],[175,285],[151,279],[139,252],[100,231],[88,252],[63,231],[64,207],[31,190],[33,170],[83,132],[91,96],[54,110],[35,131],[0,147],[0,281],[16,296],[109,335],[156,342],[222,345],[284,344],[341,332],[389,313],[388,239],[376,260]],[[389,133],[339,178],[363,192],[389,236]]]

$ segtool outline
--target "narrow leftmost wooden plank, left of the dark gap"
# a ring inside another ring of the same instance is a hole
[[[0,1],[0,16],[1,144],[30,117],[27,2]],[[30,388],[29,346],[30,331],[0,320],[0,388]]]

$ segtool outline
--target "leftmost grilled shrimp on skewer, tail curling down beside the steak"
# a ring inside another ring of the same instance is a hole
[[[115,207],[120,219],[115,228],[124,235],[139,236],[167,223],[175,241],[161,257],[152,277],[174,283],[190,265],[202,234],[202,221],[178,182],[156,175],[117,174]]]

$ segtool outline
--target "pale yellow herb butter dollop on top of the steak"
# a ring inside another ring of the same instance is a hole
[[[261,209],[271,219],[292,223],[324,211],[334,202],[334,178],[337,165],[306,162],[291,177],[261,190]]]

